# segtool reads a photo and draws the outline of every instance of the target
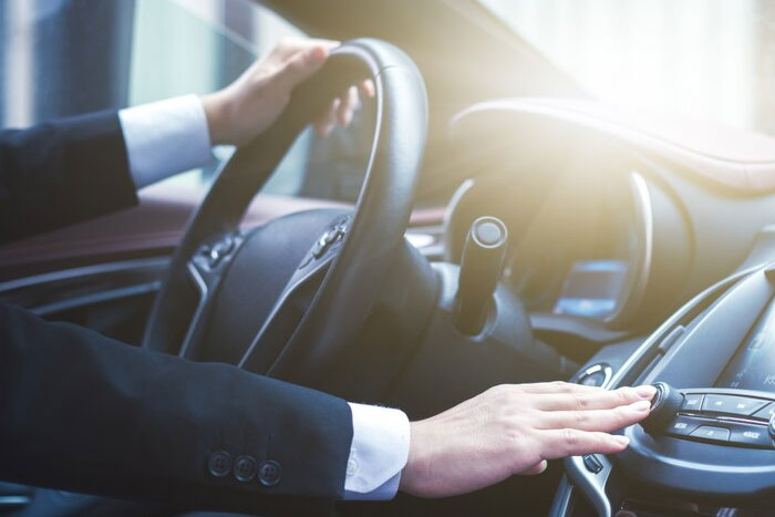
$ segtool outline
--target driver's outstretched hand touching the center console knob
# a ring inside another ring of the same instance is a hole
[[[565,382],[492,387],[411,423],[400,489],[466,494],[514,474],[539,474],[547,459],[618,453],[628,440],[608,433],[648,416],[654,393],[650,385],[606,391]]]

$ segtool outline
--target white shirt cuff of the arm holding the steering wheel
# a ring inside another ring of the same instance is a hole
[[[211,158],[207,116],[196,95],[127,107],[118,111],[118,121],[137,188]]]

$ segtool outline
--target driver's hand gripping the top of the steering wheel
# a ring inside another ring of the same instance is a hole
[[[242,145],[264,133],[288,105],[293,87],[320,70],[329,51],[338,45],[338,41],[330,40],[282,40],[234,83],[204,95],[213,144]],[[374,95],[371,81],[360,89],[365,95]],[[316,130],[324,136],[337,124],[348,126],[358,104],[358,87],[351,86],[332,101],[316,122]]]

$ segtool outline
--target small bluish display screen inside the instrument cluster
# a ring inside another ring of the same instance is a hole
[[[583,318],[604,318],[613,313],[624,288],[627,271],[624,260],[574,262],[554,312]]]

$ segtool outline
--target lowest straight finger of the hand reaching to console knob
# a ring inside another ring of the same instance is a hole
[[[574,428],[550,430],[541,433],[540,457],[557,459],[581,454],[616,454],[627,448],[626,436]]]

